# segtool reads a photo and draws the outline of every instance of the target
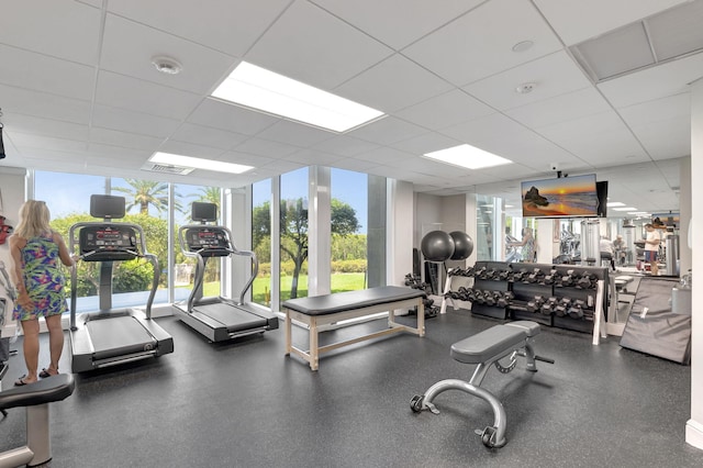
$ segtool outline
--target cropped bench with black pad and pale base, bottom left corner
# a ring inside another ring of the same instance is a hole
[[[26,445],[0,453],[0,468],[43,465],[52,459],[48,404],[68,398],[76,388],[70,374],[59,374],[0,392],[0,411],[26,406]]]

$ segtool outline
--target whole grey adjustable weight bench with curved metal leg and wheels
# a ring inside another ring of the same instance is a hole
[[[527,360],[527,370],[537,371],[535,360],[554,364],[553,359],[547,359],[535,355],[532,347],[532,338],[539,334],[539,324],[529,321],[511,322],[503,325],[495,325],[473,336],[461,339],[451,345],[451,357],[459,363],[477,364],[471,380],[466,382],[458,379],[440,380],[427,389],[425,394],[415,395],[410,402],[410,408],[419,413],[422,410],[429,410],[435,414],[439,411],[433,404],[435,397],[447,390],[461,390],[475,397],[488,401],[493,409],[493,425],[486,427],[481,434],[481,442],[489,448],[500,448],[505,445],[506,419],[505,410],[501,402],[488,390],[482,389],[481,382],[486,372],[494,364],[498,370],[507,374],[515,368],[517,355],[524,356]],[[499,359],[510,355],[510,363],[503,367]]]

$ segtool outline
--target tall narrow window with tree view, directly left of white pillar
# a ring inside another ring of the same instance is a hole
[[[308,296],[308,168],[281,176],[280,300]]]

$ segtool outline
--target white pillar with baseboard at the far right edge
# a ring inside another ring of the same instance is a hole
[[[691,86],[691,180],[703,180],[703,78]],[[703,208],[703,186],[691,183],[691,212]],[[703,245],[703,213],[691,219],[691,245]],[[693,265],[693,290],[691,301],[694,304],[703,301],[703,274],[699,280],[695,265],[703,265],[703,248],[691,252]],[[703,272],[703,269],[700,271]],[[685,442],[703,449],[703,310],[691,311],[691,419],[685,425]]]

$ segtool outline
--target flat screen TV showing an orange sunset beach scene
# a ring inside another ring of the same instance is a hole
[[[598,218],[595,174],[521,183],[523,218]]]

